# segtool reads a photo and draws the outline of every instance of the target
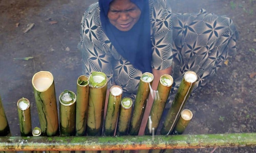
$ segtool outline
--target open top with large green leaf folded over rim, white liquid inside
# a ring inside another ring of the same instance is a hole
[[[101,88],[106,85],[108,79],[102,72],[92,72],[89,76],[90,87]]]

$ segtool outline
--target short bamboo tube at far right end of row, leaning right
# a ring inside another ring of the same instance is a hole
[[[184,109],[181,112],[181,116],[179,120],[177,121],[177,124],[175,125],[175,128],[173,130],[172,134],[182,134],[185,129],[187,128],[188,123],[193,117],[193,113],[189,109]]]

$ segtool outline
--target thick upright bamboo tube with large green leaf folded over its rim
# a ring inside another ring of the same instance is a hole
[[[107,82],[107,77],[102,72],[93,72],[89,77],[90,92],[86,126],[88,136],[101,135]]]

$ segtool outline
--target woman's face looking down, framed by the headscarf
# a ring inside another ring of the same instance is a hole
[[[114,0],[109,5],[108,18],[120,31],[129,31],[139,20],[141,11],[130,0]]]

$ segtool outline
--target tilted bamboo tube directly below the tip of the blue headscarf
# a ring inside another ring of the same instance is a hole
[[[138,135],[139,133],[140,125],[145,112],[146,102],[151,90],[153,79],[153,74],[148,72],[143,73],[140,78],[139,87],[131,117],[131,124],[129,128],[130,135]]]

